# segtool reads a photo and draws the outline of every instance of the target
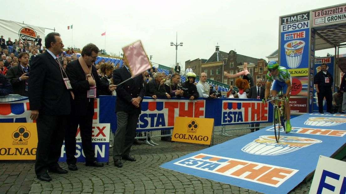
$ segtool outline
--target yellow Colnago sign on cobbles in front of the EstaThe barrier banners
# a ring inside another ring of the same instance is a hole
[[[176,117],[172,140],[210,145],[213,127],[213,118]]]

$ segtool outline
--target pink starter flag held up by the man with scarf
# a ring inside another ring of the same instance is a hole
[[[140,40],[122,48],[122,51],[124,52],[125,60],[130,68],[132,77],[142,74],[142,72],[152,67]]]

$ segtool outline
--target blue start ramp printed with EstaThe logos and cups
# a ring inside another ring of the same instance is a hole
[[[262,193],[288,193],[311,174],[319,155],[346,142],[346,115],[304,114],[275,142],[273,126],[177,158],[163,168]]]

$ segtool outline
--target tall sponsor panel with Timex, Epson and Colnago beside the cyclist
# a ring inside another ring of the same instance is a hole
[[[280,66],[292,76],[291,112],[307,113],[309,96],[310,12],[280,17]]]

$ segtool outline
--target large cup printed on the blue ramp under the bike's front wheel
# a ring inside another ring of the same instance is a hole
[[[303,147],[321,142],[321,140],[306,137],[281,136],[280,142],[276,143],[274,135],[262,135],[244,146],[242,151],[255,155],[274,156],[294,152]]]

